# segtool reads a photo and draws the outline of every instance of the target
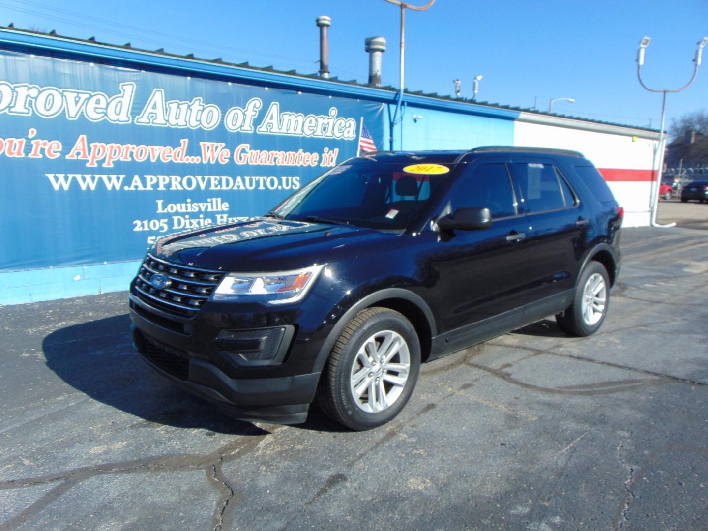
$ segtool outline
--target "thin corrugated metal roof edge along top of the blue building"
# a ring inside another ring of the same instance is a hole
[[[6,28],[12,30],[13,32],[18,32],[18,33],[24,33],[27,35],[37,35],[37,36],[44,36],[44,37],[51,37],[51,38],[58,38],[61,40],[66,40],[67,42],[76,42],[76,43],[84,43],[84,44],[89,44],[89,45],[99,45],[102,47],[108,47],[112,48],[115,50],[131,50],[135,52],[142,52],[142,53],[147,53],[150,55],[159,55],[161,57],[171,57],[174,59],[188,59],[191,61],[195,62],[201,62],[205,64],[219,64],[224,67],[235,67],[235,68],[240,68],[240,69],[247,69],[251,70],[253,72],[270,72],[273,74],[280,74],[283,76],[292,76],[294,78],[300,78],[300,79],[316,79],[318,81],[324,81],[324,82],[330,82],[333,84],[345,84],[345,85],[350,85],[350,86],[356,86],[360,89],[370,89],[372,91],[386,91],[389,93],[392,93],[392,95],[398,93],[399,89],[397,89],[394,86],[377,86],[377,87],[372,87],[367,84],[361,84],[356,79],[339,79],[338,76],[330,76],[329,78],[323,78],[319,76],[316,73],[313,74],[301,74],[297,71],[293,70],[278,70],[275,69],[273,66],[268,66],[268,67],[254,67],[253,65],[249,64],[249,62],[243,62],[243,63],[230,63],[230,62],[225,62],[222,57],[217,57],[215,59],[206,59],[204,57],[195,57],[193,53],[189,53],[186,55],[178,55],[178,54],[173,54],[170,52],[166,52],[164,48],[159,48],[158,50],[146,50],[144,48],[138,48],[138,47],[133,47],[130,42],[126,42],[124,45],[115,45],[110,42],[100,42],[96,40],[95,37],[90,37],[88,39],[79,39],[79,38],[74,38],[74,37],[67,37],[66,35],[58,35],[55,30],[51,30],[48,33],[43,33],[35,30],[26,30],[23,28],[15,28],[13,23],[10,23]],[[580,116],[573,116],[573,115],[563,115],[563,114],[557,114],[557,113],[547,113],[542,110],[537,110],[537,109],[532,109],[532,108],[521,108],[521,107],[515,107],[512,105],[502,105],[501,103],[489,103],[486,101],[473,101],[472,99],[467,99],[467,98],[453,98],[452,96],[440,96],[437,92],[424,92],[424,91],[409,91],[408,89],[404,90],[404,93],[409,94],[410,96],[419,96],[423,98],[432,98],[433,100],[438,100],[440,102],[455,102],[455,103],[460,103],[460,104],[467,104],[471,105],[477,108],[488,108],[489,110],[493,109],[498,109],[498,110],[508,110],[508,111],[515,111],[517,113],[530,113],[530,114],[535,114],[539,116],[548,116],[548,117],[558,117],[558,118],[565,118],[568,120],[578,120],[581,122],[588,122],[588,123],[593,123],[593,124],[600,124],[600,125],[607,125],[611,127],[626,127],[632,130],[638,130],[638,131],[646,131],[646,132],[652,132],[652,133],[657,133],[658,130],[656,129],[651,129],[649,127],[637,127],[634,125],[626,125],[626,124],[620,124],[617,122],[607,122],[604,120],[593,120],[590,118],[582,118]],[[360,96],[360,93],[358,94],[353,94],[354,97]]]

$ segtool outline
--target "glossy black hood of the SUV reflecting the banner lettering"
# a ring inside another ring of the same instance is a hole
[[[166,261],[223,271],[278,271],[395,249],[399,232],[260,218],[164,236],[150,253]]]

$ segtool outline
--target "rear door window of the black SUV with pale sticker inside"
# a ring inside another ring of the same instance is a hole
[[[511,164],[510,168],[511,175],[521,190],[526,212],[544,212],[566,206],[561,183],[552,165],[515,163]]]

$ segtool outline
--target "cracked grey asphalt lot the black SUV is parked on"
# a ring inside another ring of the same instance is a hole
[[[430,362],[364,433],[224,418],[140,360],[125,292],[0,307],[0,530],[706,529],[705,228],[624,229],[599,333]]]

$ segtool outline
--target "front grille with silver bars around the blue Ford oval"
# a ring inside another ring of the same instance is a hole
[[[169,278],[169,284],[160,290],[150,283],[152,277],[158,274]],[[222,271],[171,263],[148,254],[135,281],[135,295],[163,312],[193,317],[222,278]]]

